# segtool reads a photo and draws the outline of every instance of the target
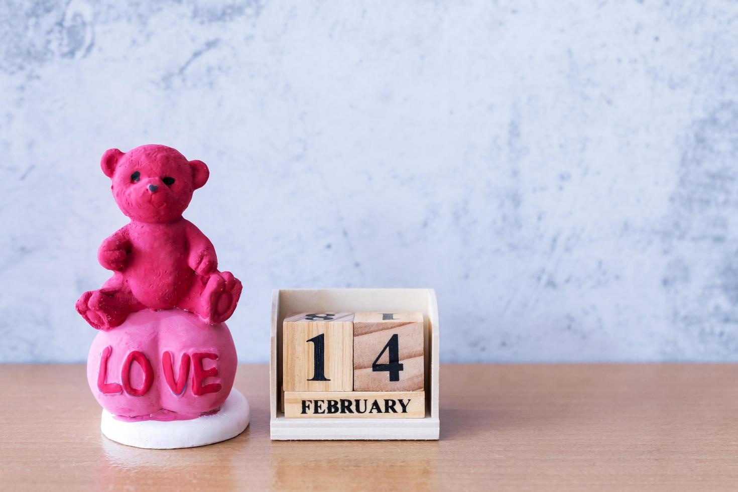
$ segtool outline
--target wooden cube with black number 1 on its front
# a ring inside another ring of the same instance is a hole
[[[354,313],[300,313],[282,326],[287,391],[351,391]]]

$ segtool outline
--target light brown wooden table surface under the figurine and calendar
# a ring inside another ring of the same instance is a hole
[[[244,434],[172,451],[100,434],[81,365],[3,365],[2,490],[736,490],[738,365],[441,367],[441,440],[269,440],[266,365]]]

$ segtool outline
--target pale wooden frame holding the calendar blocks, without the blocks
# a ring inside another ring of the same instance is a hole
[[[280,411],[282,322],[300,312],[420,311],[424,319],[424,418],[285,418]],[[432,288],[279,289],[272,292],[269,428],[272,440],[436,440],[438,303]]]

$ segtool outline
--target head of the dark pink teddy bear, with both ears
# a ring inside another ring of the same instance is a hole
[[[120,210],[134,221],[167,223],[182,217],[192,194],[210,172],[202,161],[188,161],[165,145],[107,150],[100,161]]]

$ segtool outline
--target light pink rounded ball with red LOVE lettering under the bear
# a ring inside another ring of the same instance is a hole
[[[225,323],[146,310],[97,333],[87,381],[97,402],[122,420],[189,420],[220,409],[237,364]]]

